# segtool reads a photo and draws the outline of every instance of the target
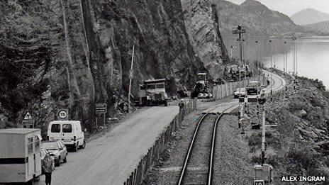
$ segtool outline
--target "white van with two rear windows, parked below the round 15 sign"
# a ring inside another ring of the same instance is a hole
[[[79,120],[54,120],[48,125],[48,140],[62,140],[66,147],[77,152],[78,147],[84,148],[86,142]]]

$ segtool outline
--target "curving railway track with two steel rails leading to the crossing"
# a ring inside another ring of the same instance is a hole
[[[179,181],[177,182],[178,185],[212,183],[217,125],[224,112],[232,107],[226,108],[219,115],[213,115],[209,110],[200,118],[184,159]]]

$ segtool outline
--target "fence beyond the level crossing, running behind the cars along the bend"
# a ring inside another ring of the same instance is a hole
[[[250,79],[247,79],[246,81],[244,79],[241,79],[240,87],[245,86],[245,83],[247,85],[250,81],[258,80],[258,76],[252,77]],[[260,82],[262,84],[266,84],[266,77],[264,74],[260,75]],[[235,89],[239,87],[239,82],[228,82],[225,84],[213,86],[213,99],[223,99],[227,96],[233,95]]]

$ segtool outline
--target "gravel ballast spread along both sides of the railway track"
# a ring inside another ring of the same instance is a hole
[[[221,101],[227,101],[227,99]],[[203,107],[215,106],[218,103],[221,102],[200,103],[201,105],[198,105],[197,111],[184,118],[182,128],[169,143],[168,150],[165,152],[166,157],[163,157],[150,170],[145,179],[145,184],[177,184],[196,124],[202,116]],[[213,123],[211,123],[211,127],[212,125]],[[240,135],[238,116],[223,116],[217,129],[213,184],[252,184],[253,169],[252,164],[250,164],[249,149],[244,136]],[[212,130],[209,129],[209,132],[212,132]],[[196,143],[196,145],[203,145],[202,147],[206,148],[211,141],[208,140],[208,142]],[[203,176],[203,171],[206,172],[208,169],[208,160],[204,161],[204,159],[208,159],[208,151],[206,152],[199,152],[198,155],[201,156],[195,157],[194,161],[199,162],[199,164],[191,174],[195,174],[196,178],[200,175]],[[188,167],[188,169],[190,168]],[[196,179],[194,181],[196,182]]]

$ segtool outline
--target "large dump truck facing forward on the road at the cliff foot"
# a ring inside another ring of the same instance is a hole
[[[136,106],[168,106],[168,95],[165,90],[166,79],[148,79],[140,84]]]

